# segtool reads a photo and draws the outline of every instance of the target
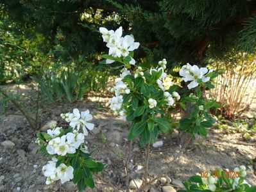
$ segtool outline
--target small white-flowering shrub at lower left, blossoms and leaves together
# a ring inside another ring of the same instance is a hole
[[[52,125],[47,132],[39,132],[36,143],[41,146],[40,151],[51,158],[43,166],[42,172],[47,177],[46,184],[60,180],[62,184],[72,180],[82,191],[87,186],[94,188],[92,175],[101,172],[104,165],[92,160],[91,154],[85,146],[85,136],[88,130],[94,128],[89,110],[74,109],[73,113],[61,114],[69,123],[69,128]],[[83,132],[80,132],[81,129]]]

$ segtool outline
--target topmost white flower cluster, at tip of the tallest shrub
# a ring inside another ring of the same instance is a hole
[[[132,35],[123,35],[123,28],[119,27],[115,31],[106,28],[99,28],[99,32],[102,34],[103,41],[107,43],[109,48],[108,54],[115,58],[126,57],[130,54],[130,51],[138,49],[139,43],[134,42]],[[107,63],[113,63],[114,60],[107,60]],[[132,58],[130,64],[135,65],[135,60]]]

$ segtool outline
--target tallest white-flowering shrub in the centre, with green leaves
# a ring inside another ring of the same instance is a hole
[[[129,140],[139,136],[143,146],[155,141],[158,132],[167,132],[171,118],[166,116],[166,111],[175,108],[176,102],[191,102],[196,108],[190,117],[181,120],[180,131],[187,131],[191,135],[207,135],[205,128],[212,127],[214,123],[214,118],[207,113],[207,109],[216,107],[217,104],[214,101],[205,101],[201,88],[212,88],[212,84],[207,82],[211,77],[217,76],[213,70],[191,66],[189,63],[184,65],[180,69],[180,76],[185,82],[191,81],[187,86],[189,89],[195,88],[196,95],[187,95],[180,99],[180,95],[175,92],[178,86],[164,83],[167,77],[166,59],[159,61],[156,68],[137,66],[133,51],[139,47],[139,43],[134,41],[132,35],[122,37],[121,27],[116,31],[108,31],[106,28],[99,28],[99,31],[109,48],[108,54],[102,56],[106,59],[105,63],[117,61],[124,67],[121,70],[121,79],[109,89],[115,93],[110,99],[110,109],[114,111],[114,115],[132,122],[129,127]]]

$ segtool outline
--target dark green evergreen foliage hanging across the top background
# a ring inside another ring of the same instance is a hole
[[[99,26],[123,26],[124,33],[132,29],[141,43],[135,58],[166,58],[171,68],[180,62],[200,63],[207,50],[209,57],[231,47],[254,52],[255,8],[255,1],[244,0],[4,0],[1,20],[6,23],[4,33],[11,24],[11,34],[21,36],[19,45],[36,41],[32,49],[65,62],[74,60],[76,65],[81,60],[98,63],[96,56],[106,50]]]

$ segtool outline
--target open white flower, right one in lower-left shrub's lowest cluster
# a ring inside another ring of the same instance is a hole
[[[67,182],[73,179],[74,177],[73,171],[74,169],[72,166],[66,166],[64,163],[60,164],[60,166],[58,166],[56,170],[58,178],[60,179],[62,184],[64,184],[64,182]]]

